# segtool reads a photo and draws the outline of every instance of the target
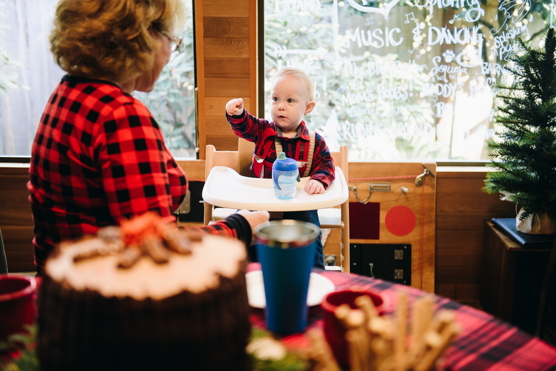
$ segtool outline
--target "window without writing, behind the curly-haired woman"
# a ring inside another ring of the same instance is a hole
[[[57,0],[0,0],[0,156],[29,156],[44,105],[65,74],[48,36]],[[192,0],[183,43],[150,93],[133,93],[156,118],[175,157],[195,157]],[[0,160],[2,162],[2,160]]]

